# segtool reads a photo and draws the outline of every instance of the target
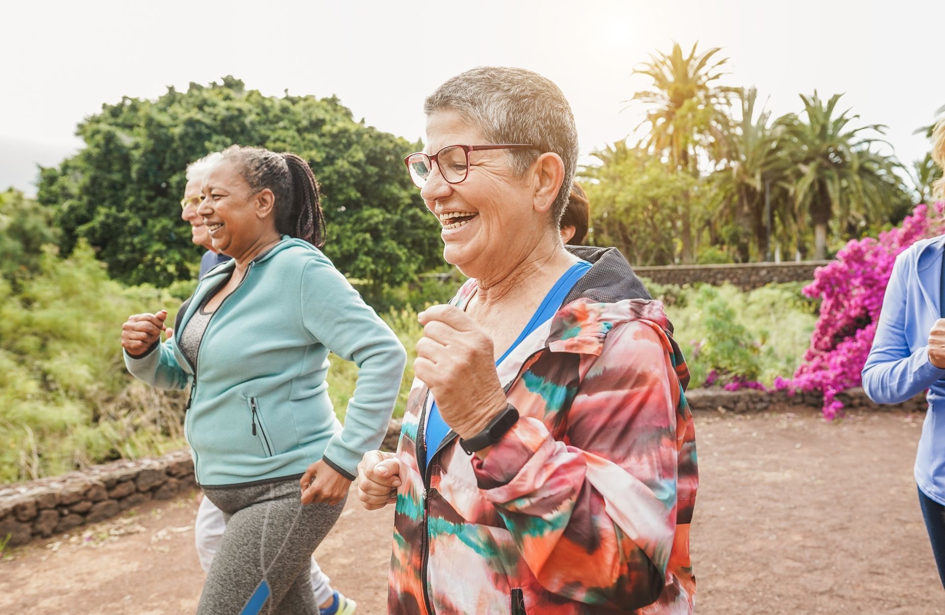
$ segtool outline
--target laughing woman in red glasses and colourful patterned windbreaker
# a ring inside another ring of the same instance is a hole
[[[358,467],[367,508],[396,502],[388,613],[691,613],[688,372],[620,252],[561,242],[570,106],[489,67],[425,111],[405,162],[470,280],[420,315],[397,453]]]

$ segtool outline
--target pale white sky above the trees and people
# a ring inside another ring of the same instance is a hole
[[[0,51],[0,189],[27,192],[35,163],[81,143],[77,122],[122,95],[156,97],[224,75],[265,94],[337,94],[355,119],[413,141],[422,102],[480,64],[554,80],[581,151],[627,136],[643,109],[633,67],[672,41],[724,47],[730,85],[755,85],[779,115],[799,93],[846,93],[886,124],[903,162],[913,130],[945,105],[943,0],[467,0],[452,2],[5,2]]]

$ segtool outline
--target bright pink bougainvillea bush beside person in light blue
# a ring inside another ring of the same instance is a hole
[[[804,355],[806,363],[791,380],[776,379],[775,389],[819,390],[824,396],[824,417],[833,419],[840,412],[843,403],[837,394],[861,384],[860,372],[876,334],[896,257],[919,239],[945,231],[943,209],[945,203],[939,202],[930,215],[927,206],[919,205],[900,227],[875,239],[851,240],[833,263],[816,270],[814,282],[803,291],[807,297],[821,299],[811,346]]]

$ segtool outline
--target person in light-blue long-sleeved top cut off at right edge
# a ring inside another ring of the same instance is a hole
[[[945,167],[945,121],[933,157]],[[945,179],[937,185],[942,194]],[[928,389],[915,476],[938,575],[945,585],[945,235],[916,242],[896,259],[863,388],[878,403],[899,403]]]

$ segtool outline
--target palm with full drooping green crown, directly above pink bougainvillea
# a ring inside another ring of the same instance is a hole
[[[776,122],[783,130],[780,147],[792,167],[794,215],[800,231],[810,219],[817,260],[826,256],[827,231],[835,216],[843,223],[880,221],[890,204],[899,205],[904,196],[902,179],[895,173],[899,162],[873,151],[873,144],[885,141],[867,136],[884,135],[885,126],[851,128],[859,115],[850,110],[836,114],[842,95],[834,94],[825,103],[816,92],[812,97],[801,94],[806,121],[790,113]]]

